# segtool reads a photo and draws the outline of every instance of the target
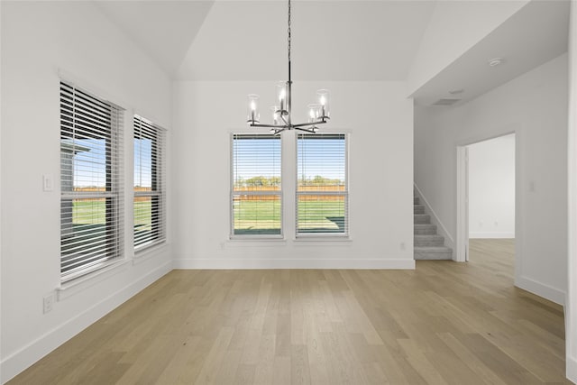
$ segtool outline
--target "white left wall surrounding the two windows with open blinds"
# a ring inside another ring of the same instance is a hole
[[[90,2],[1,6],[4,382],[171,269],[166,246],[60,292],[52,311],[42,314],[42,298],[60,285],[59,69],[167,128],[171,95],[169,78]],[[130,123],[127,129],[130,166]],[[53,191],[42,191],[42,174],[54,178]]]

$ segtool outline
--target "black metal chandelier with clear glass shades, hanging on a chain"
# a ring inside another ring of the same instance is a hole
[[[290,78],[290,0],[289,0],[289,81],[279,82],[277,85],[277,105],[270,107],[272,124],[261,124],[261,113],[259,111],[259,96],[251,94],[248,96],[247,123],[251,127],[270,128],[270,132],[276,134],[285,130],[299,130],[307,133],[316,133],[316,125],[328,123],[329,105],[328,90],[319,89],[316,91],[318,103],[308,105],[308,122],[294,124],[292,122],[292,80]]]

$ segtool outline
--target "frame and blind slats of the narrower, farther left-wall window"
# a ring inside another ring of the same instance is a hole
[[[151,164],[151,190],[150,191],[136,191],[136,180],[133,179],[133,249],[135,254],[140,254],[153,247],[156,247],[162,243],[166,243],[167,240],[167,210],[166,210],[166,168],[165,168],[165,154],[166,154],[166,135],[167,131],[159,124],[154,124],[151,120],[146,119],[142,115],[133,115],[133,149],[136,140],[142,139],[143,131],[142,125],[146,125],[146,131],[148,133],[153,133],[153,138],[151,139],[151,158],[156,159],[155,164]],[[137,133],[140,133],[137,137]],[[133,175],[136,171],[136,161],[137,156],[136,151],[133,151]],[[139,197],[151,197],[151,228],[155,233],[148,242],[137,242],[136,236],[136,220],[135,215],[136,202]],[[153,220],[153,202],[154,199],[158,200],[157,203],[157,219]],[[155,228],[156,225],[156,228]],[[138,244],[137,244],[138,243]]]

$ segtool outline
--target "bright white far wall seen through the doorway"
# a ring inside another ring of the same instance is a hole
[[[469,237],[515,238],[515,135],[469,146]]]

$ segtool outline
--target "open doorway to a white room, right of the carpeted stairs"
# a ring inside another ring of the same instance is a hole
[[[469,261],[470,240],[514,245],[515,143],[508,133],[457,147],[456,261]]]

